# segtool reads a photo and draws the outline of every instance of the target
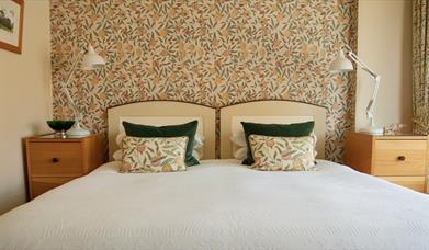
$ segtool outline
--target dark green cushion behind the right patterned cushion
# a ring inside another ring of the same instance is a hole
[[[309,136],[314,128],[314,122],[293,124],[261,124],[241,122],[241,125],[242,129],[245,130],[247,144],[247,158],[242,161],[244,164],[252,164],[255,162],[249,144],[250,135],[301,137]]]

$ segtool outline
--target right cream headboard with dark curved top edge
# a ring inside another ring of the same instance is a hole
[[[315,121],[317,158],[325,158],[326,107],[292,101],[255,101],[221,109],[221,158],[233,158],[229,137],[242,132],[240,122],[298,123]]]

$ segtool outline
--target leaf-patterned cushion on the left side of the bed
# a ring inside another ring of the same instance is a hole
[[[174,172],[187,170],[188,137],[129,137],[123,139],[120,172]]]

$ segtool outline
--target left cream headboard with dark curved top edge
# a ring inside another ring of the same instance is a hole
[[[214,159],[216,110],[213,107],[177,101],[146,101],[110,107],[108,110],[109,159],[112,160],[113,152],[118,149],[115,138],[123,130],[122,121],[160,126],[192,120],[199,120],[197,132],[205,137],[203,159]]]

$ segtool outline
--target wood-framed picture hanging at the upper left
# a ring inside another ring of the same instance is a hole
[[[24,0],[0,0],[0,48],[22,50]]]

